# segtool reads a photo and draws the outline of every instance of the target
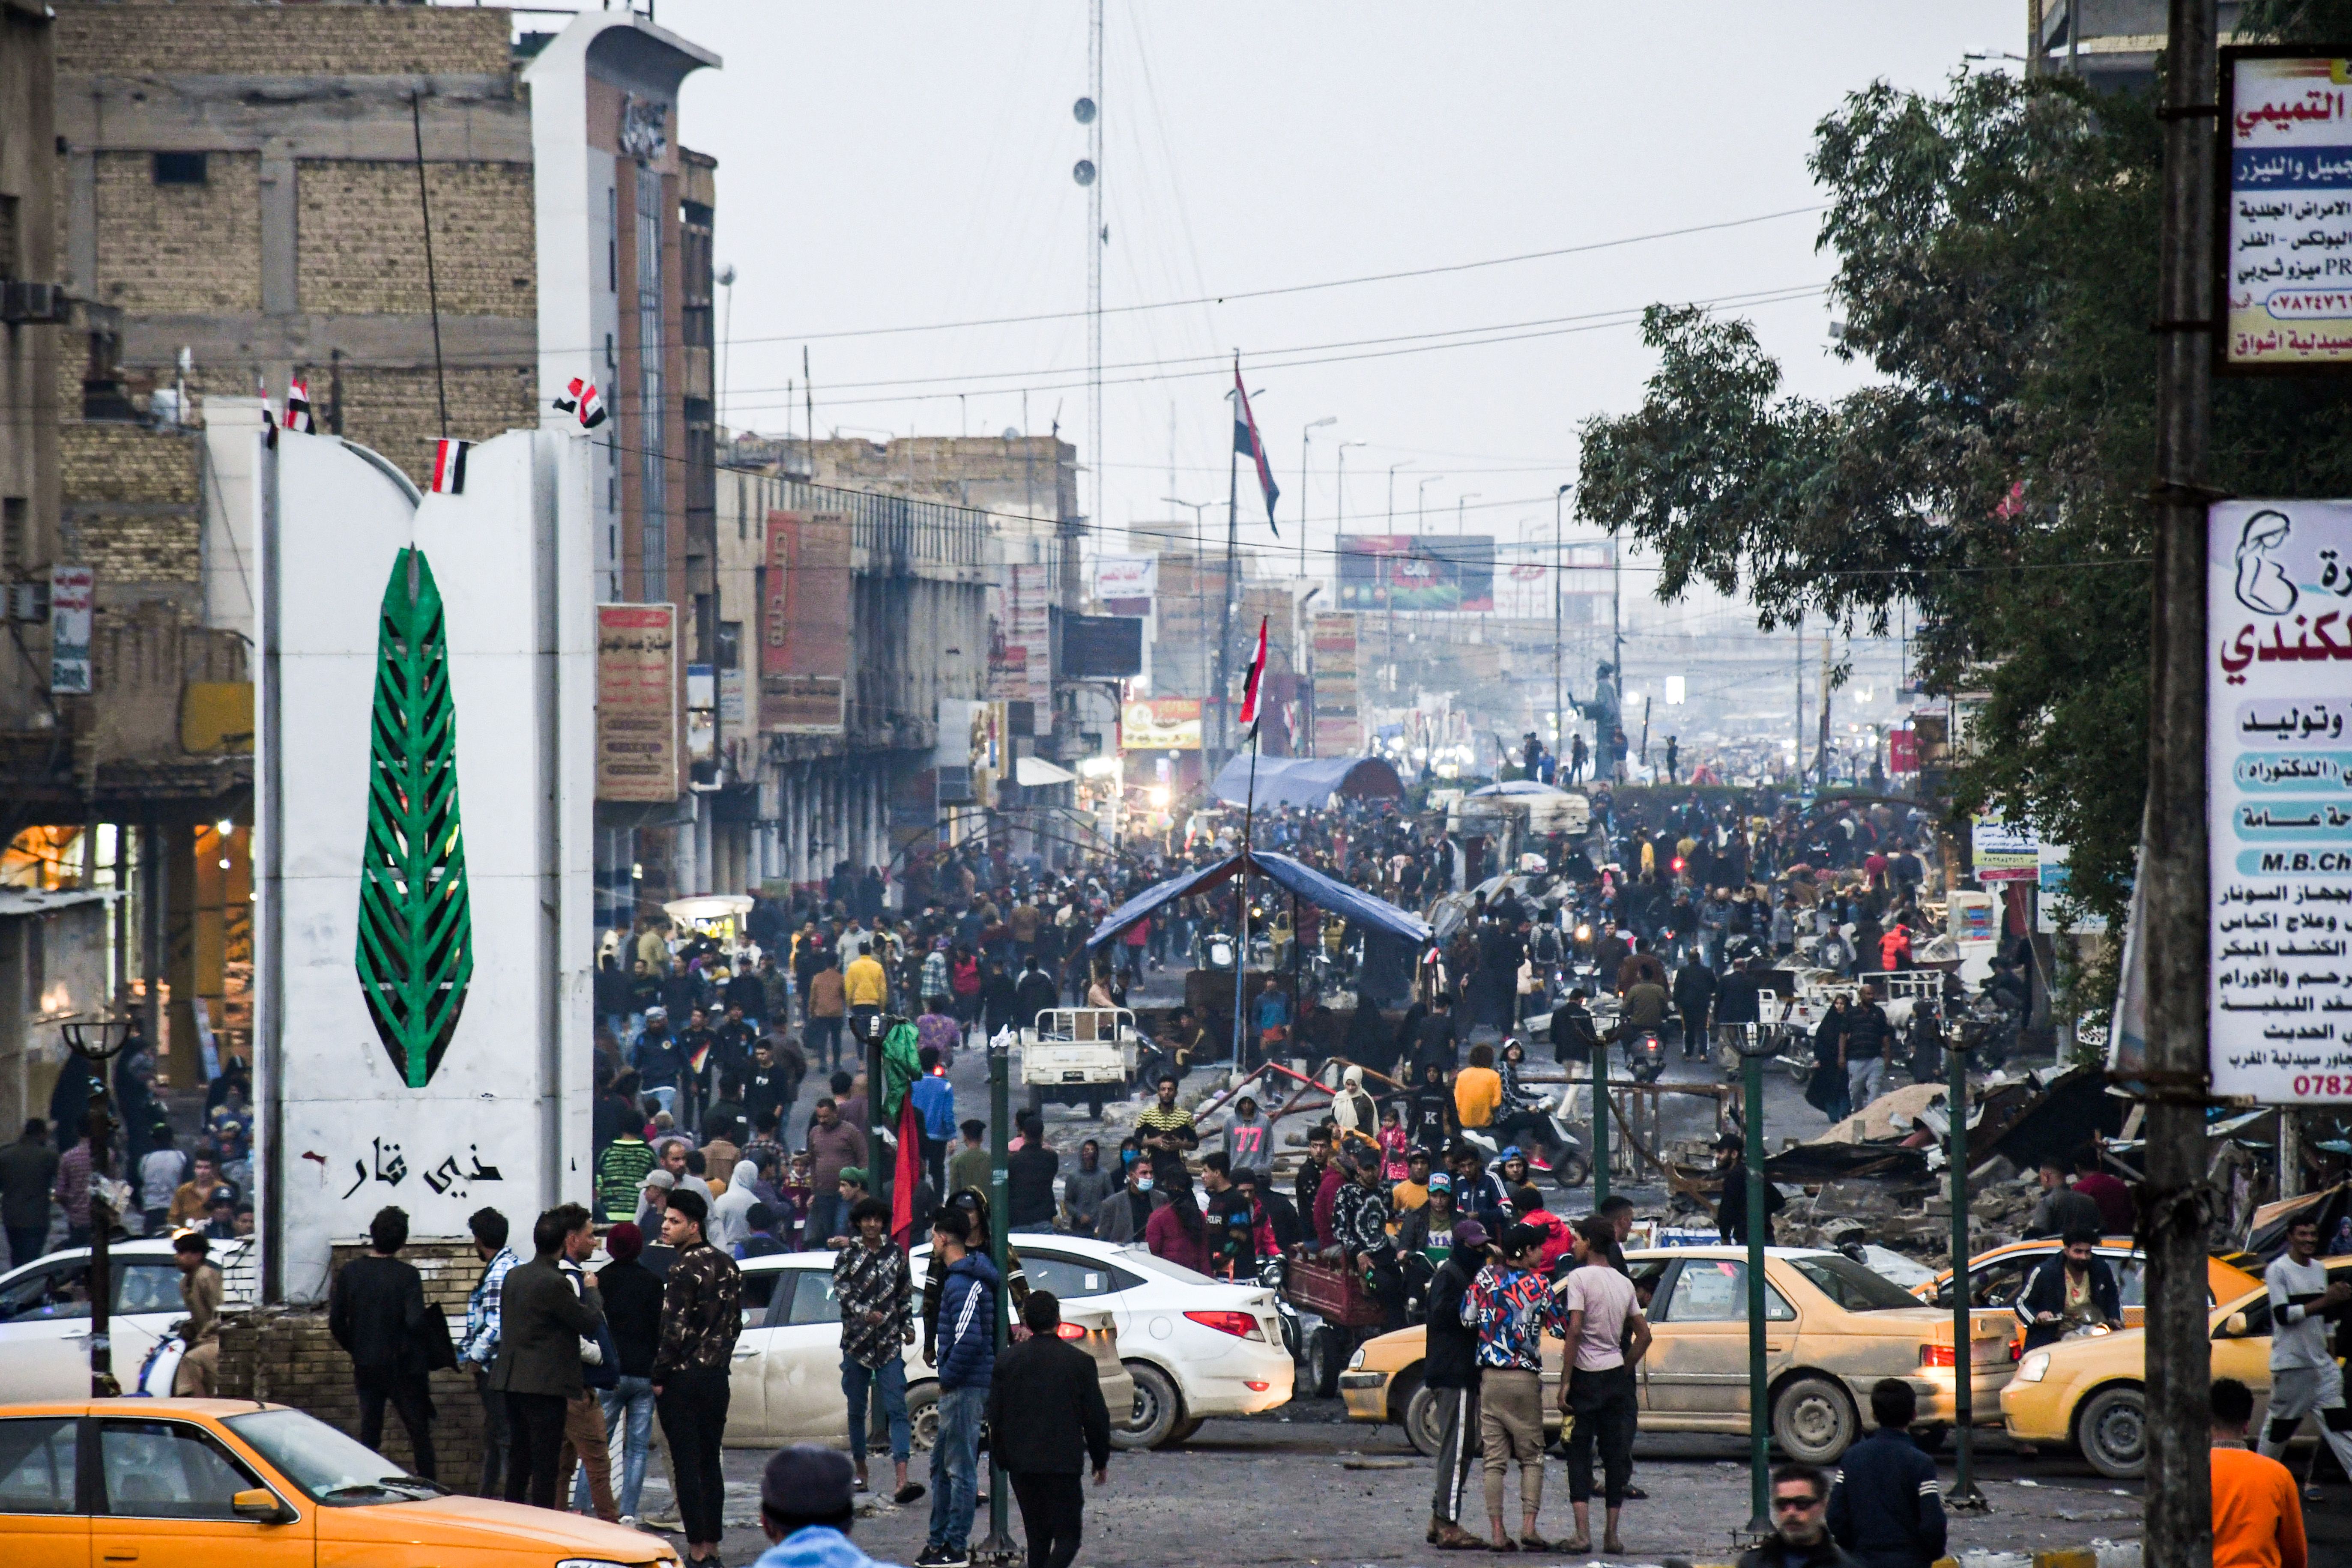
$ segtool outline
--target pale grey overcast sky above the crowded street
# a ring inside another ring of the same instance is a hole
[[[1639,400],[1651,355],[1630,322],[1646,303],[1795,294],[1729,308],[1792,390],[1851,388],[1858,371],[1823,353],[1820,296],[1802,294],[1830,277],[1818,212],[1792,212],[1820,205],[1816,122],[1875,78],[1936,89],[1971,52],[2023,47],[2016,0],[1108,0],[1096,442],[1087,193],[1070,174],[1087,155],[1070,113],[1089,92],[1082,0],[659,0],[659,21],[727,59],[689,78],[680,127],[720,160],[731,428],[807,428],[797,395],[786,407],[807,348],[821,433],[1044,433],[1058,416],[1098,522],[1185,515],[1162,501],[1183,496],[1214,501],[1221,527],[1240,348],[1287,550],[1301,428],[1338,421],[1315,433],[1305,487],[1317,574],[1338,440],[1364,442],[1345,454],[1348,531],[1385,531],[1402,463],[1397,531],[1425,496],[1432,531],[1463,503],[1465,531],[1548,538],[1576,425]],[[1214,299],[1564,247],[1604,249]],[[1465,329],[1505,341],[1421,350]],[[1247,473],[1242,520],[1244,543],[1270,543]],[[1712,602],[1663,621],[1752,630]]]

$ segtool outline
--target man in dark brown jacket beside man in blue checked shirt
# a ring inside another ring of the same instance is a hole
[[[532,1225],[532,1262],[506,1274],[499,1298],[499,1359],[489,1387],[506,1394],[506,1429],[515,1443],[506,1465],[506,1500],[555,1507],[555,1472],[564,1446],[564,1406],[581,1396],[581,1338],[604,1321],[595,1276],[574,1295],[557,1262],[586,1255],[576,1237],[593,1234],[588,1211],[560,1204]]]

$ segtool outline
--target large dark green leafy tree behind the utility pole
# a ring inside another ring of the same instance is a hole
[[[1919,682],[1987,693],[1957,804],[2072,844],[2074,896],[2122,931],[2147,788],[2154,103],[1882,82],[1809,165],[1835,353],[1879,381],[1785,395],[1748,322],[1653,306],[1658,369],[1639,409],[1585,423],[1576,510],[1663,557],[1663,599],[1745,592],[1766,630],[1884,632],[1915,607]],[[2352,494],[2347,437],[2340,381],[2216,383],[2225,491]]]

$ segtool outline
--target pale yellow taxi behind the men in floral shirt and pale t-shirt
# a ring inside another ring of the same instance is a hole
[[[1748,1248],[1677,1246],[1625,1253],[1651,1326],[1635,1373],[1644,1432],[1748,1432]],[[1559,1286],[1566,1288],[1566,1286]],[[2009,1328],[1976,1316],[1971,1413],[1990,1420],[2009,1382]],[[1423,1328],[1367,1340],[1338,1389],[1350,1420],[1395,1422],[1437,1453],[1437,1396],[1421,1387]],[[1870,1385],[1903,1378],[1919,1394],[1919,1436],[1952,1422],[1952,1314],[1922,1305],[1844,1253],[1766,1248],[1764,1352],[1771,1432],[1780,1450],[1830,1465],[1870,1422]],[[1559,1425],[1559,1340],[1543,1340],[1545,1420]]]

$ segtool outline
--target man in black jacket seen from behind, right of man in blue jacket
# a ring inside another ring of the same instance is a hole
[[[1056,1333],[1054,1293],[1030,1291],[1021,1321],[1030,1338],[997,1356],[988,1429],[1014,1481],[1030,1568],[1068,1568],[1087,1509],[1077,1476],[1091,1462],[1096,1486],[1110,1479],[1110,1410],[1094,1356]]]

